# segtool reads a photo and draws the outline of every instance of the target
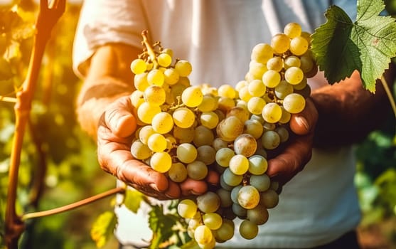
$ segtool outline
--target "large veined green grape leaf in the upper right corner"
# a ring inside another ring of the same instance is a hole
[[[312,34],[311,50],[328,83],[358,70],[363,86],[375,92],[375,80],[396,55],[396,19],[379,16],[384,9],[380,0],[358,0],[355,22],[338,6],[326,11],[326,23]]]

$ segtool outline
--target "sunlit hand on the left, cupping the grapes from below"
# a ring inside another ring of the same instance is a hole
[[[116,176],[142,193],[159,199],[180,198],[203,194],[208,186],[204,181],[186,179],[182,184],[169,181],[130,152],[137,120],[128,96],[113,102],[100,118],[97,128],[97,157],[103,170]],[[209,180],[216,184],[215,177]]]

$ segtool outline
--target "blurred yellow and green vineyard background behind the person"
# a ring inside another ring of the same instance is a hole
[[[0,57],[2,97],[15,97],[25,78],[38,2],[0,0],[0,55],[7,59]],[[98,166],[95,143],[75,120],[80,80],[71,68],[71,53],[81,3],[68,1],[46,47],[21,154],[18,213],[63,206],[112,189],[115,184],[114,178]],[[396,14],[396,0],[385,4],[390,14]],[[14,13],[9,11],[12,6]],[[396,84],[392,91],[396,97]],[[14,103],[0,100],[0,248],[4,246],[14,116]],[[381,129],[355,146],[355,184],[363,212],[359,237],[363,248],[396,248],[395,127],[395,117],[390,112]],[[111,203],[109,197],[73,211],[29,220],[21,248],[96,248],[90,229],[100,213],[112,210]],[[117,241],[112,238],[105,248],[117,248]]]

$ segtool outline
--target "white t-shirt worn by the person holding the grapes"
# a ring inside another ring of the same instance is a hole
[[[313,32],[324,23],[329,4],[355,18],[355,1],[299,0],[85,0],[77,28],[73,67],[80,77],[85,61],[105,43],[141,47],[141,31],[161,41],[177,58],[193,65],[192,84],[235,85],[247,73],[250,52],[294,21]],[[326,85],[321,74],[312,88]],[[353,230],[360,221],[353,185],[355,158],[351,147],[314,149],[313,157],[284,186],[269,221],[253,240],[238,236],[219,244],[228,248],[309,248],[328,243]],[[119,216],[117,238],[122,243],[146,244],[151,238],[144,208],[138,215],[126,208]],[[237,228],[236,228],[237,229]]]

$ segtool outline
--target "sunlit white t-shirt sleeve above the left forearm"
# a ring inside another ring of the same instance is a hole
[[[139,0],[85,0],[73,44],[73,70],[85,77],[87,60],[106,43],[141,46],[146,28]]]

